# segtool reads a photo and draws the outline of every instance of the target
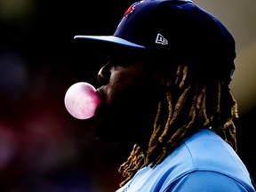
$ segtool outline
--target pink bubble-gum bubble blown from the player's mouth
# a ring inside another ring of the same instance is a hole
[[[92,84],[79,82],[68,88],[64,102],[71,116],[88,119],[94,116],[100,98]]]

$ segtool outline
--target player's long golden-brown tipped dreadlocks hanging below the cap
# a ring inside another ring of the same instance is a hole
[[[234,119],[238,118],[238,112],[229,85],[221,80],[199,81],[188,66],[179,65],[174,73],[174,76],[162,76],[161,97],[148,150],[142,150],[139,144],[133,146],[127,161],[118,169],[124,176],[120,187],[141,167],[160,164],[181,140],[202,127],[212,129],[236,150]]]

